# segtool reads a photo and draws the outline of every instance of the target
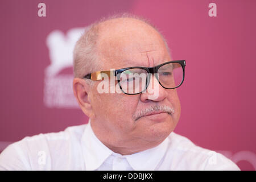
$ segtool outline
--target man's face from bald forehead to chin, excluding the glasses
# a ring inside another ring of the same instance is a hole
[[[170,61],[170,55],[160,35],[141,22],[109,27],[98,41],[101,70],[126,67],[155,67]],[[151,77],[152,81],[156,81]],[[124,93],[98,93],[97,81],[91,90],[90,101],[95,115],[92,128],[97,137],[110,146],[143,148],[150,143],[159,144],[174,130],[180,117],[180,102],[176,89],[158,88],[154,93],[127,95]],[[153,84],[154,85],[154,84]],[[151,90],[152,91],[152,90]],[[138,113],[155,106],[168,106],[174,113],[147,113],[137,119]],[[133,146],[134,147],[134,146]]]

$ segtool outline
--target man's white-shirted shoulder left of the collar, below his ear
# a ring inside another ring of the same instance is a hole
[[[73,158],[80,156],[86,126],[71,126],[57,133],[38,134],[14,142],[0,154],[0,169],[53,169],[56,164],[65,164],[67,159],[76,160]]]

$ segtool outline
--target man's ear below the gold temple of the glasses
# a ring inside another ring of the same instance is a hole
[[[94,117],[92,105],[89,98],[91,86],[84,79],[74,78],[73,93],[82,111],[89,117]]]

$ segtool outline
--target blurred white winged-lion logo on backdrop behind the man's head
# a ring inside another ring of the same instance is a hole
[[[59,74],[65,68],[72,68],[73,49],[85,28],[72,28],[65,35],[52,31],[46,39],[51,64],[45,70],[44,104],[47,107],[79,107],[73,96],[73,74]]]

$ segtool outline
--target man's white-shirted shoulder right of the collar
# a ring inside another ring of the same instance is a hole
[[[168,136],[167,158],[179,161],[174,164],[180,170],[239,170],[232,160],[224,155],[197,146],[187,137],[172,132]],[[174,159],[175,158],[175,159]]]

